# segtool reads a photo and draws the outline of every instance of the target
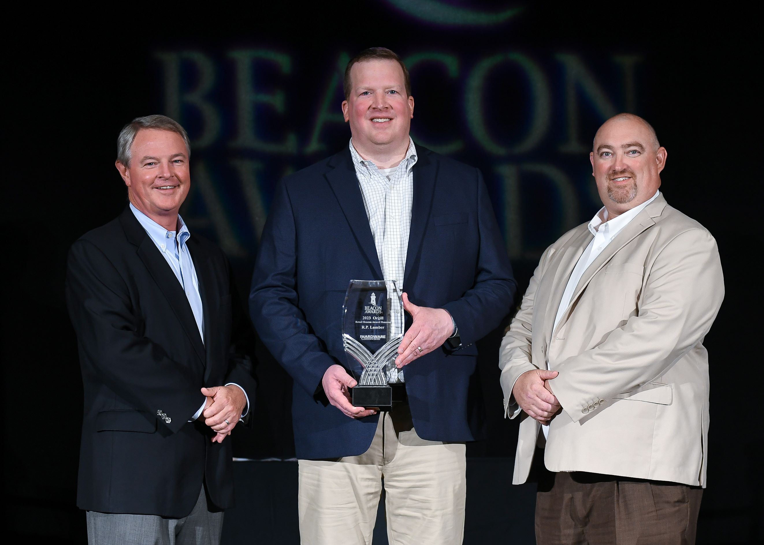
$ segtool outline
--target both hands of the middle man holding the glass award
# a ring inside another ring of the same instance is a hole
[[[403,308],[411,314],[413,322],[398,347],[398,356],[395,359],[398,369],[442,346],[454,331],[454,321],[448,311],[442,308],[418,307],[409,301],[405,292]],[[354,388],[358,381],[348,375],[344,367],[333,365],[326,369],[321,384],[329,403],[342,411],[342,414],[350,418],[364,418],[376,414],[374,409],[355,407],[351,404],[349,389]]]

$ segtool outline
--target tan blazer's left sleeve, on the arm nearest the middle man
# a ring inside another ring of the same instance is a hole
[[[512,390],[515,382],[523,372],[533,369],[541,369],[545,362],[539,362],[539,365],[533,363],[533,305],[536,302],[536,289],[539,288],[539,282],[544,272],[544,265],[552,253],[552,247],[545,250],[539,260],[539,265],[533,271],[528,289],[523,295],[523,302],[520,309],[512,318],[510,327],[507,328],[507,334],[501,341],[499,350],[499,369],[501,369],[500,383],[504,394],[504,417],[515,418],[520,414],[520,406],[517,405]]]

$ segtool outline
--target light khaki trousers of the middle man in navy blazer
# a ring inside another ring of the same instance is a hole
[[[458,545],[466,467],[464,443],[421,439],[408,405],[396,406],[360,456],[299,460],[300,543],[371,545],[384,479],[390,545]]]

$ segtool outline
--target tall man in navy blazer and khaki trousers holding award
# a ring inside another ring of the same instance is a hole
[[[384,478],[391,543],[461,543],[475,342],[509,313],[516,283],[481,173],[410,139],[400,58],[354,57],[345,98],[351,143],[280,183],[250,294],[294,379],[301,539],[371,543]],[[389,412],[350,402],[362,371],[342,346],[351,279],[403,279],[405,389]]]

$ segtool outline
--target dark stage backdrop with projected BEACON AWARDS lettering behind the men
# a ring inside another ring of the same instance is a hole
[[[125,5],[112,18],[9,18],[20,31],[4,60],[13,93],[2,218],[11,246],[3,353],[13,531],[83,534],[73,506],[82,386],[63,278],[70,244],[126,204],[113,166],[122,125],[162,113],[186,126],[192,191],[183,218],[222,246],[244,296],[274,186],[348,145],[342,70],[358,50],[384,46],[410,68],[416,143],[484,173],[521,293],[542,250],[601,206],[588,160],[599,124],[630,111],[656,127],[669,150],[662,191],[717,237],[727,277],[706,341],[711,435],[701,524],[708,543],[758,535],[760,426],[749,414],[759,403],[747,386],[756,351],[740,263],[756,250],[740,242],[760,248],[758,232],[745,227],[757,183],[746,178],[760,155],[749,60],[760,47],[746,15],[725,9],[387,0]],[[516,424],[502,418],[498,385],[502,329],[480,346],[489,439],[469,445],[468,456],[514,455]],[[263,347],[257,356],[254,424],[231,437],[235,453],[290,458],[291,380]]]

